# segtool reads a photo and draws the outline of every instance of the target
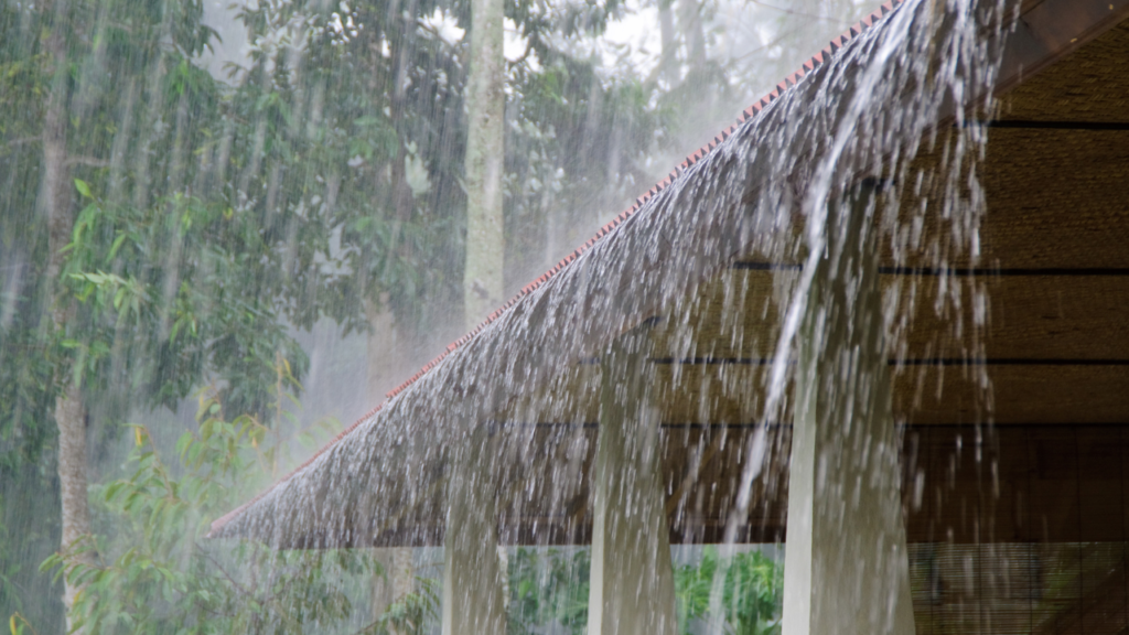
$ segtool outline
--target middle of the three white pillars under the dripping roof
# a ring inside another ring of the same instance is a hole
[[[677,633],[648,330],[602,362],[588,635]]]

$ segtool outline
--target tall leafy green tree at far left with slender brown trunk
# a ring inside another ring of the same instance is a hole
[[[175,407],[209,381],[224,384],[239,410],[262,414],[274,360],[292,363],[297,376],[305,366],[290,324],[310,323],[321,312],[310,301],[333,295],[324,217],[292,201],[274,206],[254,191],[259,205],[248,203],[239,200],[246,192],[226,182],[233,165],[248,166],[263,154],[277,159],[262,147],[255,157],[238,151],[254,147],[240,141],[256,138],[265,119],[251,118],[248,134],[238,106],[269,106],[270,92],[252,85],[243,99],[219,98],[227,89],[189,63],[211,36],[201,18],[199,0],[0,5],[0,104],[10,113],[0,124],[0,173],[14,185],[0,197],[0,261],[17,272],[0,311],[7,315],[0,321],[0,497],[6,510],[51,499],[43,488],[52,480],[8,466],[52,458],[36,455],[33,444],[53,419],[61,510],[40,506],[36,514],[47,528],[61,521],[71,565],[93,556],[81,540],[90,529],[86,446],[88,435],[105,438],[113,429],[99,419],[123,418],[134,407]],[[115,88],[124,89],[124,99]],[[149,107],[133,125],[139,94]],[[157,147],[166,151],[149,150]],[[257,168],[238,175],[247,188],[271,181]],[[340,302],[326,305],[334,308],[349,315]],[[14,545],[0,546],[3,582],[35,571],[34,563],[12,564],[20,555]],[[85,579],[68,572],[62,580],[69,608]],[[16,600],[9,584],[0,586],[9,608]],[[69,625],[78,617],[68,612]]]

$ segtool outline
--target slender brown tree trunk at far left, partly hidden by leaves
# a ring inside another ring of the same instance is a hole
[[[62,331],[71,313],[71,303],[58,288],[62,271],[63,247],[70,243],[75,227],[71,212],[70,169],[67,156],[67,49],[63,26],[68,10],[65,0],[54,6],[54,24],[46,38],[46,50],[54,64],[54,78],[47,94],[46,112],[43,118],[43,181],[40,190],[41,205],[47,217],[47,285],[51,293],[51,320],[55,331]],[[73,548],[76,542],[90,532],[90,516],[87,510],[86,477],[86,417],[78,373],[64,373],[60,377],[62,391],[55,399],[55,424],[59,426],[59,484],[62,499],[62,549]],[[91,562],[84,554],[71,562]],[[82,585],[65,583],[63,602],[67,606],[68,632],[71,629],[70,611]]]

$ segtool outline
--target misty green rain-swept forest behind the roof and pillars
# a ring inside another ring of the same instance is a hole
[[[502,297],[866,8],[507,0]],[[463,332],[473,28],[469,0],[0,0],[12,630],[64,632],[69,604],[89,632],[426,621],[426,581],[378,611],[340,582],[387,575],[379,557],[280,562],[202,532]],[[88,533],[63,536],[67,496]],[[583,628],[575,585],[545,591],[531,554],[511,612]],[[553,557],[559,580],[583,573]],[[710,558],[680,574],[682,615],[704,610]]]

